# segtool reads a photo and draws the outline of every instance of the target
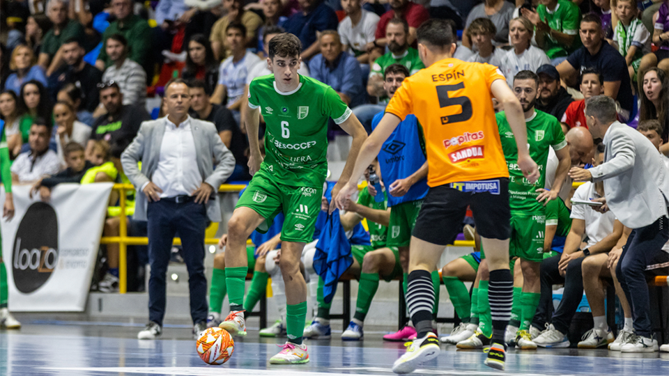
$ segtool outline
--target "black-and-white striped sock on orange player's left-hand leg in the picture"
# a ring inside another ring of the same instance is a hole
[[[432,308],[434,306],[434,285],[432,276],[426,270],[414,270],[409,274],[406,305],[417,331],[422,338],[432,330]]]

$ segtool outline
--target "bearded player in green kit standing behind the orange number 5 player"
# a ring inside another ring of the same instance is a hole
[[[539,279],[539,265],[544,259],[544,235],[546,233],[546,203],[557,198],[562,183],[567,177],[571,165],[569,148],[564,139],[562,127],[554,116],[535,109],[539,77],[534,72],[523,70],[514,77],[514,94],[523,106],[525,123],[528,129],[528,146],[530,157],[539,166],[539,179],[531,184],[523,178],[523,174],[516,166],[517,149],[511,127],[504,112],[497,114],[497,124],[502,141],[502,149],[509,168],[509,205],[511,207],[512,235],[509,242],[509,258],[521,259],[523,272],[523,288],[518,295],[514,294],[514,304],[521,307],[520,327],[516,334],[516,349],[532,350],[537,345],[532,342],[528,330],[535,316],[539,298],[541,297],[541,281]],[[558,164],[555,171],[555,180],[551,190],[544,189],[546,182],[546,162],[549,148],[555,150]],[[484,249],[481,258],[484,258]],[[479,273],[482,274],[479,283],[479,328],[470,338],[458,343],[460,348],[479,348],[489,343],[492,335],[488,299],[481,299],[487,295],[488,281],[485,272],[486,263],[482,262]],[[481,304],[483,306],[481,306]],[[481,320],[485,318],[486,320]]]

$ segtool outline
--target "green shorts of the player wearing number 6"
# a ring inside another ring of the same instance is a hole
[[[316,182],[318,184],[318,182]],[[318,187],[283,185],[264,171],[258,171],[237,202],[237,207],[250,207],[266,221],[258,226],[259,233],[267,233],[274,217],[284,213],[281,240],[304,242],[313,240],[316,217],[321,211],[323,182]]]

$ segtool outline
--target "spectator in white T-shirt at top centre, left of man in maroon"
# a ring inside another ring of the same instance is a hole
[[[346,17],[339,22],[337,32],[344,51],[355,56],[360,64],[374,63],[369,61],[369,52],[374,48],[378,15],[362,9],[361,0],[341,0],[341,8]]]

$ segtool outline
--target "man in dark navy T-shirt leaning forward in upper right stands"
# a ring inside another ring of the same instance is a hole
[[[574,75],[585,68],[594,68],[601,72],[604,77],[604,95],[612,97],[620,104],[618,115],[620,120],[626,123],[632,111],[633,95],[625,59],[620,52],[603,40],[601,19],[596,15],[583,16],[578,32],[583,47],[557,65],[560,77],[569,82]]]

